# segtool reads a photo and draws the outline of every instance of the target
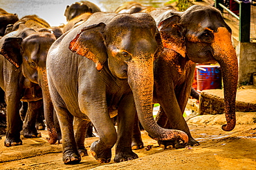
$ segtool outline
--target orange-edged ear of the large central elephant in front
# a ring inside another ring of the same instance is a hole
[[[92,60],[98,71],[102,70],[104,62],[107,61],[107,48],[102,34],[104,27],[104,23],[98,23],[83,28],[69,44],[72,52]]]

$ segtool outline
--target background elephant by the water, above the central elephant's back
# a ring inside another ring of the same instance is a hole
[[[72,3],[71,6],[66,6],[64,16],[66,17],[66,21],[71,21],[71,19],[74,19],[81,14],[95,13],[100,11],[100,8],[90,1],[79,1]]]

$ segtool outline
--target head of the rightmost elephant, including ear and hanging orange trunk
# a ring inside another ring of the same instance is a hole
[[[231,42],[231,29],[221,13],[210,6],[192,6],[185,12],[153,11],[165,47],[170,47],[194,63],[216,63],[223,72],[225,114],[227,125],[235,127],[235,97],[237,92],[237,55]]]

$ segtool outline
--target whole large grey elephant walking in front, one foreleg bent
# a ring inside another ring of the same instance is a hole
[[[91,121],[98,131],[100,139],[90,150],[99,162],[111,160],[115,144],[115,162],[138,158],[131,151],[130,130],[136,109],[152,138],[188,142],[183,131],[163,129],[152,116],[153,59],[161,45],[149,14],[104,12],[93,13],[53,43],[46,72],[62,131],[64,164],[81,160],[76,143],[83,143],[85,132],[79,131],[81,138],[74,137],[74,117]],[[118,132],[111,121],[116,114]]]

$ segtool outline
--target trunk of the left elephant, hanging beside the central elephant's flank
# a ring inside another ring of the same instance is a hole
[[[54,123],[54,115],[53,115],[53,103],[51,100],[49,88],[48,88],[48,81],[47,81],[47,75],[46,75],[46,69],[44,68],[41,70],[42,75],[39,75],[39,77],[42,77],[42,80],[39,81],[39,85],[42,88],[42,93],[43,93],[43,100],[44,100],[44,118],[46,120],[46,127],[48,130],[48,136],[47,138],[48,142],[50,144],[55,144],[58,140],[57,136],[57,130],[55,128],[55,123]]]

